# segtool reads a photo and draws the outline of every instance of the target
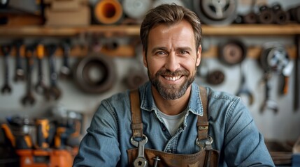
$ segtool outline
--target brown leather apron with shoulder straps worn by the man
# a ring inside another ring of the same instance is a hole
[[[195,147],[199,146],[201,150],[195,154],[172,154],[149,148],[143,149],[143,155],[147,161],[147,166],[218,166],[219,152],[213,150],[211,143],[213,139],[208,136],[208,116],[207,116],[207,93],[206,89],[200,87],[200,95],[203,104],[203,116],[198,116],[198,138]],[[138,90],[131,90],[130,93],[131,104],[131,129],[132,137],[147,138],[143,134],[143,122],[141,120],[140,98]],[[138,143],[137,141],[134,141]],[[138,147],[138,145],[136,145]],[[138,148],[127,150],[129,166],[134,166],[134,162],[138,157]],[[145,163],[136,164],[136,166],[143,166]]]

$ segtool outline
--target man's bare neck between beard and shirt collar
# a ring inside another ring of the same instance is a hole
[[[160,111],[167,115],[174,116],[182,111],[185,111],[187,108],[187,104],[190,99],[191,87],[192,86],[187,88],[185,95],[176,100],[165,100],[153,86],[152,95],[155,100],[155,104]]]

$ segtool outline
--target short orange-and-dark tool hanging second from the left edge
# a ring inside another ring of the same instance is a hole
[[[15,81],[24,81],[25,75],[22,65],[22,57],[24,56],[24,45],[22,40],[15,41]]]

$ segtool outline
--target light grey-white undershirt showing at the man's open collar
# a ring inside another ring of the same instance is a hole
[[[165,113],[162,113],[162,111],[159,111],[159,115],[162,116],[162,120],[164,120],[164,124],[166,125],[166,129],[170,132],[171,136],[176,134],[178,127],[183,123],[183,120],[185,119],[185,111],[179,113],[176,116],[169,116]]]

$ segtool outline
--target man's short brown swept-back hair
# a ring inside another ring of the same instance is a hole
[[[202,29],[201,23],[197,15],[191,10],[178,6],[175,3],[162,4],[156,8],[152,8],[141,24],[140,36],[143,45],[143,49],[147,52],[148,49],[148,35],[150,29],[157,24],[172,25],[182,20],[186,20],[192,25],[192,29],[195,35],[196,49],[201,45]]]

